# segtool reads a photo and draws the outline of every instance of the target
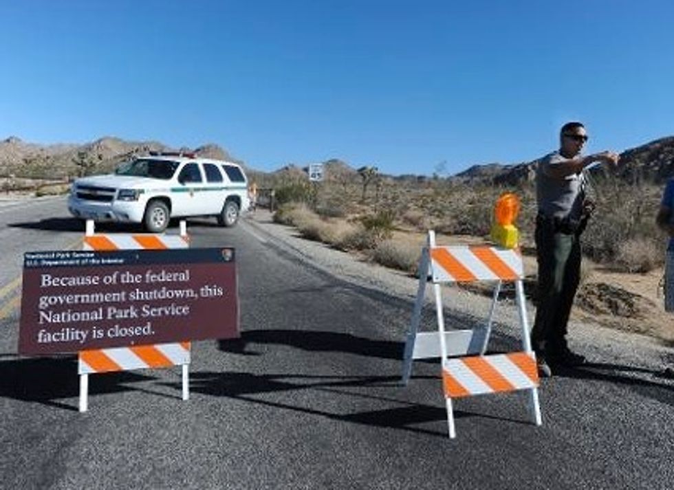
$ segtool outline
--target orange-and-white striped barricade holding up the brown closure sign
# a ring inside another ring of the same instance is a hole
[[[129,250],[188,248],[185,221],[180,235],[170,234],[95,234],[94,221],[87,221],[83,250]],[[82,350],[78,353],[80,375],[80,412],[87,411],[89,374],[131,369],[158,369],[182,366],[182,399],[189,399],[190,342],[140,345]]]

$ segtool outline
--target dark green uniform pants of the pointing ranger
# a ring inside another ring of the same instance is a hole
[[[532,346],[536,353],[554,355],[567,348],[567,322],[580,282],[580,236],[539,217],[535,238],[539,285]]]

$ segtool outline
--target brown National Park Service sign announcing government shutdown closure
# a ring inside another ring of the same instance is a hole
[[[28,252],[19,353],[239,336],[234,250]]]

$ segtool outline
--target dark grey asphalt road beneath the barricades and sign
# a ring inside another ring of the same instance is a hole
[[[7,489],[671,489],[674,384],[610,361],[522,393],[455,402],[437,362],[399,384],[404,298],[315,267],[243,222],[191,223],[195,247],[237,249],[241,339],[193,345],[180,370],[90,377],[74,357],[17,357],[21,254],[78,247],[62,200],[0,206],[0,487]],[[451,315],[451,312],[447,312]],[[493,348],[517,340],[495,334]]]

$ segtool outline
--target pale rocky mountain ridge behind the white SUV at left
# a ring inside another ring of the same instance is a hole
[[[0,141],[0,177],[68,179],[109,172],[120,162],[151,151],[194,151],[204,157],[242,163],[216,144],[196,149],[171,148],[154,141],[129,142],[118,137],[102,137],[80,145],[39,145],[11,136]]]

